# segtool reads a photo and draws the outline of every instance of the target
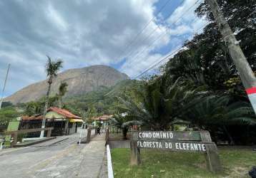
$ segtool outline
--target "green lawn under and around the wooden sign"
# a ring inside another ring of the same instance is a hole
[[[224,171],[207,171],[205,156],[201,153],[141,150],[142,164],[129,165],[129,149],[112,150],[114,177],[249,177],[248,171],[256,165],[256,152],[245,149],[221,149],[220,160]]]

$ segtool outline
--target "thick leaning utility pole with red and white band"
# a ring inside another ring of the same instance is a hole
[[[242,85],[244,85],[247,92],[252,108],[256,113],[256,78],[255,74],[252,72],[247,59],[245,58],[242,49],[240,48],[239,42],[235,38],[234,33],[232,32],[229,24],[227,23],[220,6],[217,4],[216,0],[207,0],[207,3],[210,5],[213,16],[217,26],[219,27],[222,38],[224,39],[227,48],[230,51],[230,56],[232,61],[235,63],[235,66],[238,70],[240,78],[242,80]]]

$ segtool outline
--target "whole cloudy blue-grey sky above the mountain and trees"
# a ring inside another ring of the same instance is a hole
[[[202,31],[201,2],[1,0],[0,89],[8,63],[4,96],[46,79],[46,56],[62,59],[61,71],[100,64],[134,78]]]

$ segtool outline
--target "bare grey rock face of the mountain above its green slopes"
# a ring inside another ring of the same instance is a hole
[[[129,79],[128,75],[120,73],[118,70],[109,66],[97,65],[86,68],[69,69],[59,73],[58,76],[54,78],[51,87],[51,95],[55,95],[58,92],[61,82],[68,83],[69,87],[66,95],[72,96],[97,90],[97,88],[101,86],[111,87],[119,81],[126,79]],[[38,100],[46,95],[47,87],[47,80],[43,80],[39,83],[34,83],[22,88],[4,100],[14,104]]]

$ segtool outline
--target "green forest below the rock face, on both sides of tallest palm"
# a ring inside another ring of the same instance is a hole
[[[111,88],[100,86],[97,90],[84,95],[63,98],[62,108],[70,110],[76,115],[86,117],[88,120],[99,115],[112,115],[115,113],[117,105],[119,105],[116,98],[118,95],[126,93],[134,100],[139,101],[135,88],[139,90],[140,85],[141,82],[136,80],[123,80]],[[25,104],[19,103],[19,106],[25,108],[27,115],[37,115],[44,112],[45,101],[46,98],[44,97]],[[50,96],[49,107],[59,107],[58,101],[59,95]]]

